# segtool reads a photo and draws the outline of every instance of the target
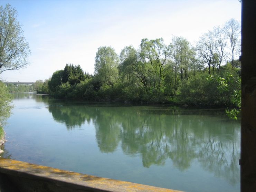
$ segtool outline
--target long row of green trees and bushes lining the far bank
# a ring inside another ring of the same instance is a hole
[[[138,49],[99,47],[94,75],[67,64],[35,89],[56,98],[94,101],[237,106],[240,23],[231,19],[203,34],[196,46],[183,37],[142,39]]]

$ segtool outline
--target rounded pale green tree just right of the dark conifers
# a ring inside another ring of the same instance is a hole
[[[95,57],[94,73],[103,84],[113,87],[119,77],[118,63],[119,58],[112,47],[99,47]]]

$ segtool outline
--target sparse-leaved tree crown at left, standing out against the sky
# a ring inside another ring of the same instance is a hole
[[[17,11],[10,4],[4,8],[0,6],[0,74],[28,64],[30,49],[21,27],[17,21]]]

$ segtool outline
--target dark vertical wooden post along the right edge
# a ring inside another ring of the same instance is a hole
[[[256,1],[242,0],[241,191],[256,191]]]

